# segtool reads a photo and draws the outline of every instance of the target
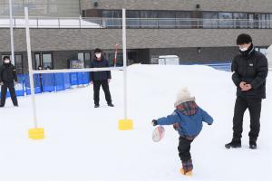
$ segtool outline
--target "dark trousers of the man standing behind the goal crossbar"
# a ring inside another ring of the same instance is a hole
[[[107,100],[108,104],[112,103],[112,96],[109,88],[108,80],[102,81],[93,81],[93,100],[95,105],[99,105],[99,91],[100,86],[102,85],[102,89],[105,93],[105,99]]]

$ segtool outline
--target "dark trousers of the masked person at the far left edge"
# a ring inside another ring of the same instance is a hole
[[[13,100],[13,103],[15,106],[18,105],[16,93],[15,93],[15,84],[14,82],[4,82],[4,85],[1,86],[1,107],[5,106],[5,96],[6,96],[6,90],[9,90],[11,99]]]

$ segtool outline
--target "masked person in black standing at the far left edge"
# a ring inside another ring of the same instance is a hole
[[[18,106],[18,101],[15,93],[15,84],[17,83],[17,75],[15,66],[10,62],[8,56],[3,59],[3,65],[0,67],[0,85],[1,85],[1,104],[5,106],[5,95],[8,88],[14,105]]]

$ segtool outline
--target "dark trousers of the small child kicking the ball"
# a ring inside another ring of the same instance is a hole
[[[180,139],[180,143],[179,143],[178,150],[179,150],[180,160],[182,162],[187,162],[191,158],[189,149],[190,149],[190,144],[193,140],[189,140],[183,137],[180,137],[179,139]]]

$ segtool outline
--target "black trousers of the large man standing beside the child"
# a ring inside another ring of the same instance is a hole
[[[250,115],[249,139],[256,141],[260,128],[261,99],[237,97],[233,117],[233,139],[240,140],[243,132],[244,113],[248,109]]]

